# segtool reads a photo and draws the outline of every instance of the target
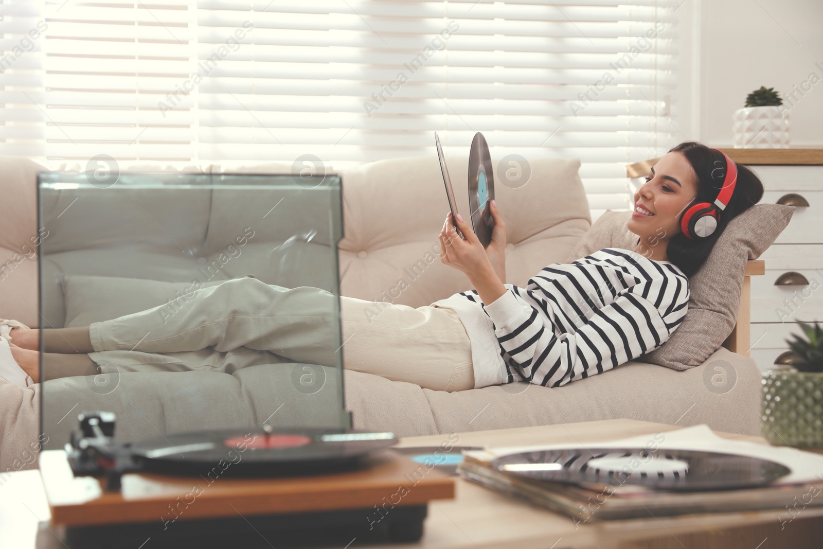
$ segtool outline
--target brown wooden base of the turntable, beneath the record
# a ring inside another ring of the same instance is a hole
[[[225,533],[235,526],[277,531],[346,526],[365,532],[388,526],[389,537],[413,541],[422,533],[428,501],[454,497],[453,477],[391,449],[367,464],[307,477],[231,477],[230,464],[225,471],[191,477],[127,473],[120,491],[106,492],[101,479],[74,477],[63,450],[40,454],[52,526],[66,532],[66,539],[81,539],[82,547],[117,547],[100,540],[114,543],[120,536],[122,542],[128,533],[151,534],[153,540],[143,547],[151,549],[164,547],[164,539],[210,537],[212,530]],[[91,542],[92,537],[100,539]]]

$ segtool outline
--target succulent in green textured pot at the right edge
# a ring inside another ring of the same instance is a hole
[[[787,365],[763,373],[760,433],[771,444],[823,447],[823,329],[797,321]]]

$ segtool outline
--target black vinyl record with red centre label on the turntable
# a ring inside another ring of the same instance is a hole
[[[357,468],[363,458],[395,444],[393,433],[340,430],[215,430],[166,435],[135,443],[145,470],[232,475],[322,474]]]

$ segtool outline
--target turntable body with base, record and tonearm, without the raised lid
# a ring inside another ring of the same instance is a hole
[[[112,414],[79,419],[67,449],[40,455],[52,528],[69,549],[414,542],[428,501],[454,496],[452,477],[390,449],[391,433],[215,431],[123,444]]]

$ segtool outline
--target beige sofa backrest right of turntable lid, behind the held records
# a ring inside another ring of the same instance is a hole
[[[468,157],[446,158],[458,212],[467,219]],[[525,285],[549,263],[565,261],[591,226],[578,159],[535,159],[518,188],[502,184],[495,199],[506,222],[506,280]],[[504,166],[504,167],[509,167]],[[449,202],[436,156],[370,162],[341,172],[345,238],[341,293],[419,307],[471,289],[466,276],[439,261],[438,235]]]

